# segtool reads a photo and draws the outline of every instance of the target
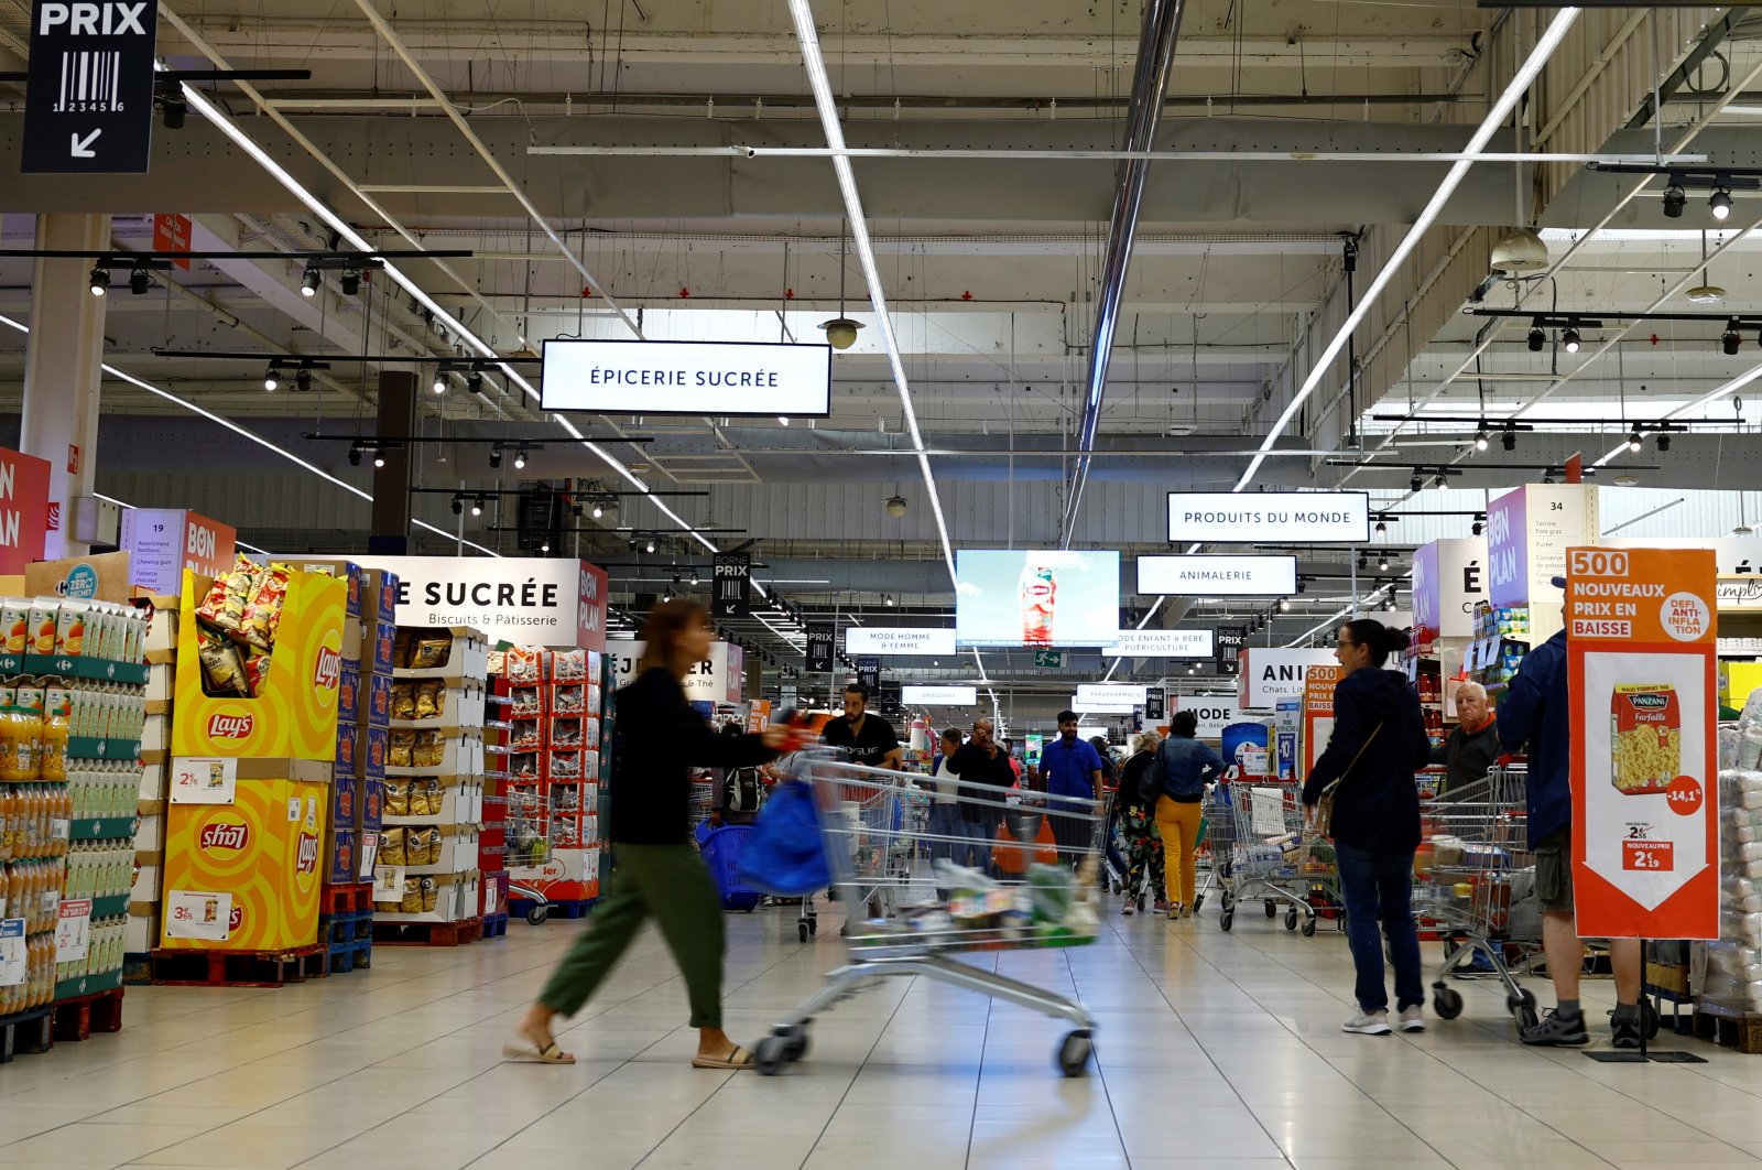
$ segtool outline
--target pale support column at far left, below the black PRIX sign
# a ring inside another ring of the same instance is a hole
[[[39,215],[37,247],[102,252],[111,247],[107,215]],[[19,446],[49,462],[53,527],[42,555],[49,560],[90,552],[72,539],[74,500],[92,493],[99,442],[99,379],[104,363],[104,303],[92,296],[92,257],[39,259],[30,287],[30,338],[25,342],[25,411]],[[127,287],[129,273],[120,275]]]

